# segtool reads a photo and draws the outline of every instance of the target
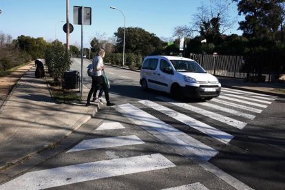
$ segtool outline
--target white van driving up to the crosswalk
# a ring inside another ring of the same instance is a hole
[[[196,61],[179,56],[147,56],[140,71],[142,89],[170,93],[173,98],[211,99],[220,95],[218,78]]]

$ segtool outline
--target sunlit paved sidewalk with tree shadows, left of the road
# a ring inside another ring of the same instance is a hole
[[[0,170],[59,142],[97,111],[84,101],[54,102],[45,78],[34,71],[31,64],[0,108]]]

